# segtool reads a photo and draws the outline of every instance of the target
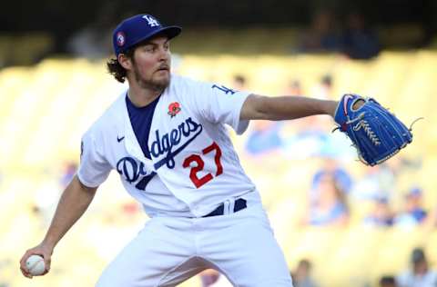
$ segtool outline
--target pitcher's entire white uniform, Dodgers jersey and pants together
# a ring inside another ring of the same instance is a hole
[[[292,286],[259,193],[224,125],[245,131],[249,123],[239,114],[248,95],[172,75],[158,102],[147,105],[151,120],[132,120],[150,124],[150,158],[132,127],[126,92],[86,132],[79,180],[96,187],[115,169],[153,217],[107,266],[97,287],[176,286],[206,268],[216,268],[235,286]],[[247,207],[234,212],[239,197]],[[223,215],[203,217],[219,204]]]

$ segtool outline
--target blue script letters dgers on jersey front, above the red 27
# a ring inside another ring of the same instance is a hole
[[[168,168],[175,167],[175,156],[182,152],[189,143],[191,143],[198,134],[202,133],[202,125],[196,123],[191,117],[185,120],[184,123],[179,124],[178,128],[171,130],[167,134],[160,136],[159,130],[155,131],[155,141],[153,141],[150,147],[150,153],[153,157],[157,158],[160,155],[165,154],[166,156],[154,164],[155,169],[158,170],[164,164],[167,164]],[[182,145],[178,146],[183,139],[188,138],[188,140]],[[178,147],[176,150],[172,151],[173,148]]]

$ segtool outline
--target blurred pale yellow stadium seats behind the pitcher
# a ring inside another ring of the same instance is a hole
[[[437,53],[384,52],[365,62],[333,54],[186,54],[176,60],[178,74],[229,86],[235,74],[243,74],[248,89],[257,94],[283,94],[294,79],[311,95],[320,77],[330,74],[332,94],[374,96],[405,123],[424,117],[413,125],[413,143],[392,161],[406,159],[418,165],[397,174],[392,204],[400,209],[404,191],[420,184],[424,207],[437,209],[437,113],[432,106]],[[0,70],[0,286],[92,286],[107,262],[147,220],[112,173],[88,213],[57,246],[51,274],[30,282],[19,273],[22,253],[46,233],[66,164],[78,160],[81,134],[125,87],[107,74],[104,62],[83,59],[50,59],[31,67]],[[299,218],[311,177],[322,160],[284,151],[252,155],[245,150],[248,134],[232,138],[259,187],[290,269],[301,258],[309,258],[322,287],[376,286],[382,274],[397,274],[408,267],[415,246],[422,246],[431,262],[437,263],[434,222],[408,229],[365,226],[361,219],[367,202],[350,202],[347,226],[302,225]],[[353,156],[341,163],[353,178],[365,172]],[[199,286],[198,278],[182,286]]]

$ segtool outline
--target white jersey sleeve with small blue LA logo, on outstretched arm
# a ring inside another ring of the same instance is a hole
[[[243,134],[249,121],[239,119],[241,108],[250,93],[232,90],[221,84],[201,83],[197,89],[198,112],[211,123],[229,124],[237,134]]]

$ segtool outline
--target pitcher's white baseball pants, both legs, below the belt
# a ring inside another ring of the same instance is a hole
[[[154,217],[97,287],[176,286],[208,268],[234,286],[290,287],[290,271],[260,203],[204,218]]]

